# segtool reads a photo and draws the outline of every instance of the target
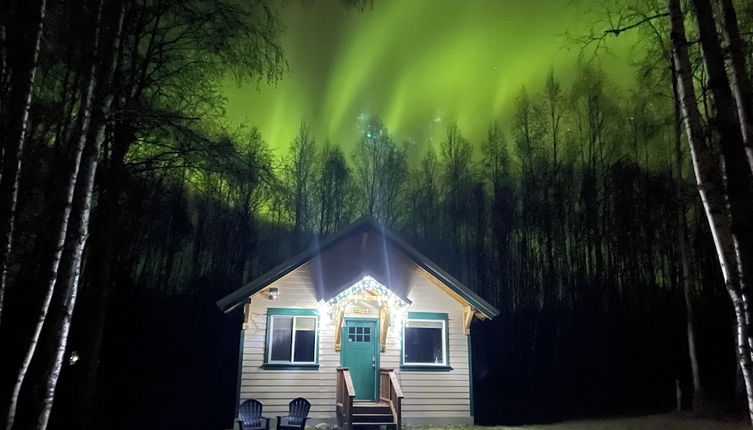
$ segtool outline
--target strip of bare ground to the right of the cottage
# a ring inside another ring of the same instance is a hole
[[[416,430],[742,430],[750,429],[744,422],[723,422],[681,415],[651,415],[645,417],[610,418],[568,421],[559,424],[527,425],[520,427],[426,426]]]

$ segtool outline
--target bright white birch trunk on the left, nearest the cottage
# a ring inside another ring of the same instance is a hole
[[[110,118],[110,110],[113,101],[112,81],[117,62],[117,53],[120,47],[120,36],[123,27],[125,7],[117,2],[117,9],[113,11],[114,26],[112,45],[103,55],[107,57],[98,63],[102,67],[97,78],[97,104],[93,109],[93,126],[90,127],[81,171],[76,183],[73,212],[71,214],[70,229],[66,239],[62,268],[55,286],[55,300],[52,304],[54,313],[50,323],[53,324],[52,339],[47,345],[51,352],[43,357],[45,360],[45,377],[43,380],[44,391],[41,399],[41,410],[37,416],[36,429],[45,430],[49,423],[50,412],[55,400],[55,388],[60,377],[65,350],[68,344],[73,309],[78,296],[79,282],[81,279],[81,267],[83,262],[84,248],[89,237],[89,219],[91,215],[92,195],[94,192],[94,179],[97,172],[102,143],[105,140],[107,124]],[[101,15],[102,0],[99,4]],[[98,18],[97,22],[100,22]],[[99,33],[101,30],[98,30]]]

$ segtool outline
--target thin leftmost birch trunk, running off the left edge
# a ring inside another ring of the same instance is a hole
[[[5,2],[4,2],[5,3]],[[21,2],[19,2],[20,4]],[[7,4],[6,4],[7,6]],[[0,138],[2,138],[2,175],[0,175],[0,323],[7,288],[8,259],[13,248],[13,230],[18,199],[18,175],[21,156],[29,128],[29,109],[34,93],[34,77],[39,59],[39,49],[44,28],[47,1],[38,0],[28,7],[31,32],[19,31],[19,40],[13,41],[17,55],[9,56],[8,29],[0,29],[2,45],[2,76],[10,85],[7,106],[0,106]],[[24,9],[27,10],[27,9]],[[6,13],[6,12],[3,12]],[[24,17],[25,18],[25,17]],[[7,49],[7,50],[6,50]],[[13,60],[9,61],[9,57]],[[3,103],[5,104],[5,103]],[[7,121],[7,122],[6,122]]]

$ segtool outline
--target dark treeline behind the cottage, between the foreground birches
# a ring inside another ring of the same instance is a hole
[[[133,158],[108,224],[112,290],[102,297],[91,267],[71,344],[82,362],[62,389],[97,386],[102,419],[140,399],[124,427],[153,422],[154,408],[170,425],[187,404],[206,414],[198,422],[225,423],[239,316],[213,302],[370,215],[500,308],[474,332],[479,422],[672,410],[678,381],[688,407],[681,234],[702,383],[731,404],[732,321],[692,185],[676,178],[671,111],[619,94],[592,69],[568,89],[551,75],[521,94],[509,128],[472,143],[450,126],[414,163],[378,119],[350,151],[318,145],[303,124],[279,159],[255,129],[202,138],[199,161]],[[82,386],[99,337],[95,385]]]

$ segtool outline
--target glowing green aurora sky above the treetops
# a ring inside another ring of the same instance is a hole
[[[451,121],[480,142],[490,122],[506,121],[523,86],[537,91],[551,68],[572,79],[580,50],[564,34],[594,19],[573,0],[375,0],[361,13],[336,0],[312,3],[282,11],[290,65],[282,81],[226,85],[229,123],[259,127],[278,153],[302,118],[319,142],[350,148],[371,114],[415,149],[441,139]],[[601,63],[630,85],[630,40],[621,39]]]

